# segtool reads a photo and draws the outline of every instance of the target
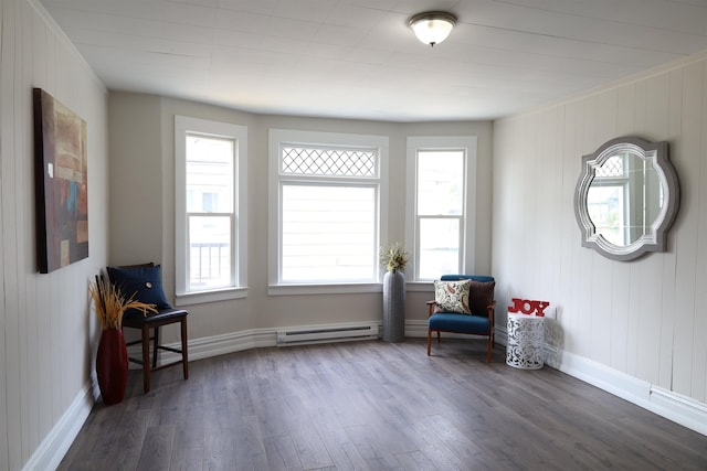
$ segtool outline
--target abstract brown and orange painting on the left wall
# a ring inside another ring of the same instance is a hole
[[[88,257],[86,121],[34,88],[36,263],[42,274]]]

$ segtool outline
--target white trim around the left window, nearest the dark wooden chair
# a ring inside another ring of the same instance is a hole
[[[233,208],[236,221],[234,265],[236,286],[187,292],[187,132],[200,132],[236,141],[235,188]],[[247,128],[229,122],[175,116],[175,266],[176,304],[245,298],[247,296]]]

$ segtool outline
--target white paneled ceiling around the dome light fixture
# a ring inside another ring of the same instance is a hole
[[[264,114],[493,119],[707,50],[707,0],[41,1],[109,89]]]

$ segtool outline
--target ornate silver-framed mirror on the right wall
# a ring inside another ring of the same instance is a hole
[[[574,192],[582,246],[613,260],[665,251],[679,199],[667,142],[612,139],[582,157]]]

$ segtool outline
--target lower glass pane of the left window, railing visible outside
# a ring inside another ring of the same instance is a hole
[[[231,286],[231,216],[189,216],[189,285]]]

